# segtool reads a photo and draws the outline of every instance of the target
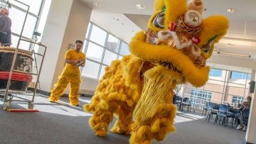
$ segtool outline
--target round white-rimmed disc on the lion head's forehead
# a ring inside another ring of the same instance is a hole
[[[200,26],[202,21],[203,18],[198,11],[189,10],[184,15],[184,22],[192,28]]]

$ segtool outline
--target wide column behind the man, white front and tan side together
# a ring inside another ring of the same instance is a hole
[[[41,39],[41,43],[48,47],[40,77],[44,92],[50,92],[58,81],[69,45],[74,45],[75,40],[85,40],[91,12],[81,1],[52,1]]]

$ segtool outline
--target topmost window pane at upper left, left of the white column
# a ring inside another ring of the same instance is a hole
[[[20,0],[23,4],[27,4],[29,6],[29,12],[34,13],[38,15],[42,0]],[[17,1],[10,0],[11,4],[14,4],[15,6],[20,7],[21,9],[27,10],[28,6],[25,6],[21,3],[18,3]]]

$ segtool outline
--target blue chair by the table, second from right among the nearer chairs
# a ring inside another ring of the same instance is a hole
[[[218,112],[215,117],[214,124],[217,123],[217,119],[219,118],[219,125],[220,121],[222,121],[221,125],[224,124],[224,127],[227,123],[227,118],[228,118],[228,106],[226,104],[220,104]]]

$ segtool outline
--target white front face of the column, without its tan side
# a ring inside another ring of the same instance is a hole
[[[41,38],[41,43],[48,47],[40,76],[41,90],[46,92],[50,92],[52,86],[72,3],[73,0],[54,0],[50,4],[46,26]]]

